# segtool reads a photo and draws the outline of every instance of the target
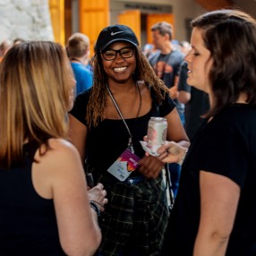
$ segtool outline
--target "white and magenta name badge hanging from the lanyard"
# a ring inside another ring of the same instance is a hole
[[[125,149],[115,163],[107,169],[107,172],[114,175],[119,181],[124,182],[137,168],[139,160],[140,158],[129,149]]]

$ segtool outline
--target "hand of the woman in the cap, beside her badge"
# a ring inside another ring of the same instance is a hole
[[[164,163],[153,156],[145,156],[139,161],[138,170],[147,178],[156,179],[164,167]]]

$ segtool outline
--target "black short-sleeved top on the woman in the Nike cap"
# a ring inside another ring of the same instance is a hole
[[[85,115],[89,98],[90,90],[79,94],[70,112],[84,125],[87,125]],[[143,141],[143,136],[147,135],[150,117],[166,116],[175,108],[175,102],[167,94],[160,106],[157,104],[153,90],[151,90],[151,98],[152,107],[148,114],[125,119],[132,133],[135,155],[139,158],[145,155],[140,141]],[[94,168],[94,172],[108,175],[107,168],[127,149],[128,140],[129,134],[122,120],[105,119],[99,122],[97,127],[91,127],[87,139],[87,161]],[[138,175],[136,170],[132,172],[132,175]]]

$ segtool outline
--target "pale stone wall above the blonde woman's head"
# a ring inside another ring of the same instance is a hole
[[[0,0],[0,43],[15,38],[54,40],[48,0]]]

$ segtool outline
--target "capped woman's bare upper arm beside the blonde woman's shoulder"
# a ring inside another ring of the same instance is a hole
[[[82,163],[85,159],[86,153],[86,138],[88,129],[86,125],[82,124],[73,115],[69,115],[69,138],[76,149],[78,149]]]

